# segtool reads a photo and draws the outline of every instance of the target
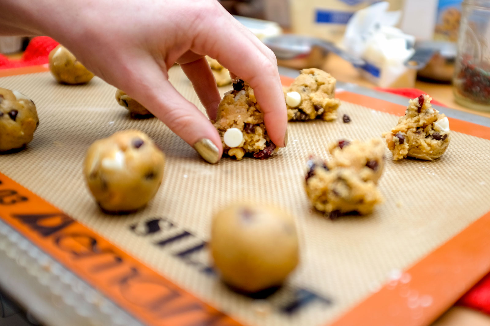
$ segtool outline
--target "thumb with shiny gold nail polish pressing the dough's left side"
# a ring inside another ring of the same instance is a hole
[[[126,93],[193,146],[203,159],[218,162],[222,154],[221,138],[208,118],[173,88],[152,58],[139,60],[132,67],[139,77],[132,74],[136,80],[127,83]]]

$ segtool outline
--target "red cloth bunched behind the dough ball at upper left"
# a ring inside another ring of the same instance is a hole
[[[0,69],[44,65],[48,63],[49,52],[59,43],[47,36],[33,38],[20,60],[12,60],[0,54]]]

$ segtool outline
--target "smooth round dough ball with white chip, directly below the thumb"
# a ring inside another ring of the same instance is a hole
[[[145,133],[124,130],[89,147],[83,172],[103,210],[129,212],[155,196],[164,166],[165,155]]]

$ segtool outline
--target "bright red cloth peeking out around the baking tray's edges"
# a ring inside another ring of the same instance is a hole
[[[58,42],[46,36],[33,38],[24,55],[20,60],[9,60],[6,56],[0,54],[0,69],[18,68],[25,66],[43,65],[48,63],[49,52],[58,45]],[[416,98],[425,92],[413,88],[377,88],[377,91],[388,92],[402,95],[408,98]],[[432,100],[432,103],[445,106],[441,102]],[[470,308],[482,310],[490,314],[490,274],[476,284],[458,304]]]

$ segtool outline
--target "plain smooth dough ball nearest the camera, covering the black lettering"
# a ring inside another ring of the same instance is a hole
[[[294,218],[269,206],[221,210],[213,217],[209,245],[221,278],[247,293],[282,284],[299,261]]]

